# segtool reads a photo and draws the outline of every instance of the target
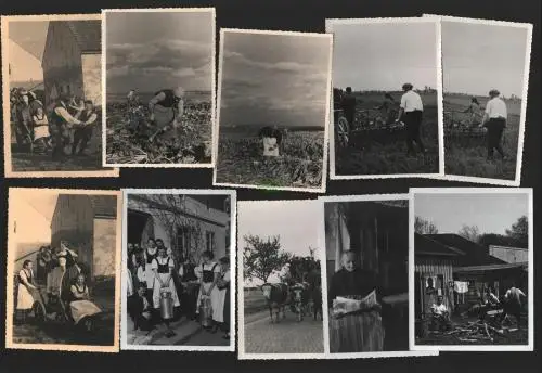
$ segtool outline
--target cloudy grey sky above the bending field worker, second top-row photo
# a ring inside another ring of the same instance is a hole
[[[211,91],[211,12],[106,13],[107,92]],[[151,25],[144,27],[144,25]]]

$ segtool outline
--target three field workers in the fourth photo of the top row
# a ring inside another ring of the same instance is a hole
[[[382,111],[382,123],[392,124],[402,121],[406,129],[406,149],[408,155],[415,154],[414,143],[420,151],[425,154],[426,147],[422,140],[421,129],[424,114],[422,97],[413,90],[413,86],[406,82],[402,86],[403,94],[397,107],[397,102],[390,93],[385,93],[383,102],[375,107]],[[356,119],[356,107],[360,100],[353,94],[352,88],[347,87],[345,92],[335,90],[335,108],[343,111],[343,115],[352,127]],[[397,113],[397,116],[396,116]]]

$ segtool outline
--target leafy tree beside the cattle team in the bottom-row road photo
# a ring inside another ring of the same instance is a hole
[[[291,255],[281,250],[279,235],[268,237],[266,241],[257,235],[245,235],[243,248],[243,265],[245,279],[268,281],[269,275],[280,270],[291,259]]]

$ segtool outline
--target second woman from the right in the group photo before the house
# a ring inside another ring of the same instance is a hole
[[[202,303],[206,299],[210,299],[210,306],[212,309],[211,318],[215,321],[211,332],[217,333],[218,322],[223,321],[223,316],[221,314],[222,308],[220,307],[220,291],[217,287],[217,282],[220,275],[220,266],[212,261],[215,255],[211,252],[205,252],[202,254],[202,266],[196,269],[196,275],[201,279],[199,295],[197,297],[197,310],[202,306]],[[203,312],[201,312],[203,313]],[[202,314],[202,323],[204,327],[207,325],[207,314]]]

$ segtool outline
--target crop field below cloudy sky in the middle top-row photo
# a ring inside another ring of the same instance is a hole
[[[254,131],[257,133],[257,130]],[[262,156],[262,143],[249,133],[220,130],[217,182],[245,185],[322,185],[324,131],[291,131],[283,139],[280,157]]]

